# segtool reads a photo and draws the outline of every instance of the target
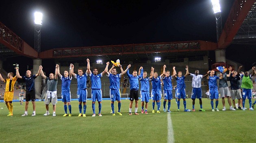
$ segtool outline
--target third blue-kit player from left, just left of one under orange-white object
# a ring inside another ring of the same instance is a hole
[[[91,70],[89,71],[89,76],[91,78],[91,100],[92,100],[92,109],[93,109],[93,117],[95,117],[95,101],[97,100],[99,103],[99,116],[101,115],[101,101],[102,101],[102,91],[101,91],[101,77],[106,73],[106,70],[108,70],[109,62],[106,63],[106,68],[102,73],[98,74],[98,69],[93,69],[93,74],[91,73]]]

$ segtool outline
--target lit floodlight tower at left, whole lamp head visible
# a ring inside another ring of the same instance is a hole
[[[41,27],[43,14],[39,12],[34,13],[35,16],[35,50],[40,53],[41,51]]]

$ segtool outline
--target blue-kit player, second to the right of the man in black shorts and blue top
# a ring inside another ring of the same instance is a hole
[[[152,98],[152,113],[155,113],[155,102],[157,105],[157,113],[160,113],[160,105],[161,105],[161,78],[158,77],[157,72],[154,72],[154,68],[151,67],[151,75],[150,80],[152,82],[152,91],[151,91],[151,98]],[[161,77],[163,74],[161,74]]]

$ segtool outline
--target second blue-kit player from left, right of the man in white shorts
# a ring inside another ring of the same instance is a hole
[[[87,76],[89,75],[89,69],[90,69],[90,60],[86,59],[87,61],[87,70],[84,74],[82,69],[78,69],[78,75],[74,73],[74,65],[70,64],[71,66],[71,74],[74,76],[74,78],[77,79],[77,98],[78,98],[78,109],[79,109],[79,114],[78,117],[86,117],[86,101],[87,101]],[[82,114],[82,103],[83,103],[83,114]]]

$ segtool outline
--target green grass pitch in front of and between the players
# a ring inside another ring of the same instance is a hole
[[[148,107],[148,115],[141,114],[139,102],[139,115],[128,115],[129,100],[122,100],[121,113],[123,116],[112,116],[110,101],[102,101],[102,117],[98,116],[98,103],[95,104],[96,117],[92,116],[91,101],[87,101],[87,117],[78,117],[78,101],[72,101],[72,117],[63,117],[63,103],[58,101],[56,117],[43,116],[46,109],[43,102],[36,102],[36,116],[32,114],[32,103],[29,103],[28,116],[24,114],[24,104],[13,103],[13,116],[8,117],[5,103],[0,103],[0,142],[18,143],[46,143],[46,142],[92,142],[92,143],[166,143],[168,142],[167,125],[172,123],[174,142],[176,143],[235,143],[254,142],[256,127],[256,111],[249,111],[246,100],[245,111],[221,111],[222,104],[219,99],[219,112],[211,111],[210,100],[203,99],[205,112],[199,110],[199,101],[195,100],[195,112],[184,112],[183,101],[180,103],[181,111],[177,111],[175,99],[171,100],[171,120],[167,120],[167,113],[152,113],[152,101]],[[252,100],[254,102],[254,99]],[[215,105],[215,101],[214,101]],[[134,106],[132,112],[134,113]],[[167,105],[166,105],[167,106]],[[156,108],[156,106],[155,106]],[[187,108],[192,109],[191,99],[187,99]],[[115,103],[117,112],[117,103]]]

